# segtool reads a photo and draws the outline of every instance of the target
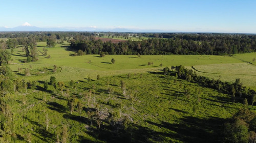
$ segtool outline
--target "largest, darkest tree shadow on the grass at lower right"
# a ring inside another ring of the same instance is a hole
[[[146,121],[152,125],[172,131],[170,138],[184,142],[220,142],[222,126],[225,122],[221,118],[201,119],[197,117],[182,118],[179,123],[170,124],[162,122],[161,124]]]

